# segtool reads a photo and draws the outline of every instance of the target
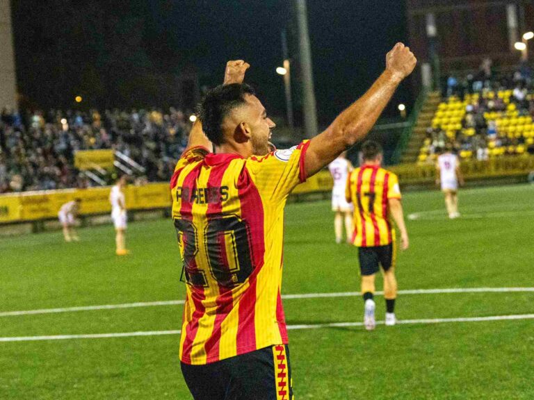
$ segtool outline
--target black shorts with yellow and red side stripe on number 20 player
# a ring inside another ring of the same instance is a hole
[[[181,372],[195,400],[293,400],[287,345],[206,365],[181,363]]]

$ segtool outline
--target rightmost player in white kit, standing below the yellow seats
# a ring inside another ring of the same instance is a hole
[[[437,157],[436,184],[441,184],[448,217],[451,219],[460,217],[460,213],[458,213],[458,184],[464,185],[464,178],[460,171],[460,160],[450,147],[447,147],[445,152]]]

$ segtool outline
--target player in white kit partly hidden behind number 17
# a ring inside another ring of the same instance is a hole
[[[349,160],[346,159],[347,152],[343,151],[336,158],[328,169],[334,178],[334,188],[332,188],[332,211],[334,211],[334,232],[336,243],[341,243],[343,236],[343,219],[345,221],[346,241],[350,243],[350,236],[353,232],[353,205],[345,199],[345,187],[350,172],[354,169]]]

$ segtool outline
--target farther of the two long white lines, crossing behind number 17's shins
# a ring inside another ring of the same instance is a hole
[[[534,288],[449,288],[449,289],[410,289],[399,290],[398,294],[442,294],[442,293],[508,293],[508,292],[534,292]],[[380,296],[384,292],[375,292]],[[331,297],[357,297],[360,292],[332,292],[332,293],[300,293],[284,294],[282,299],[321,299]],[[17,315],[73,313],[76,311],[115,310],[118,308],[138,308],[154,306],[179,306],[184,300],[147,301],[124,304],[103,304],[99,306],[78,306],[66,308],[43,308],[41,310],[3,311],[0,317],[14,317]]]

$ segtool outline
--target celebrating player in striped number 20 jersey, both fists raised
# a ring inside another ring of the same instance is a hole
[[[225,84],[207,93],[170,183],[187,283],[179,356],[195,400],[293,399],[281,297],[286,199],[364,138],[415,64],[396,44],[361,99],[287,150],[270,151],[275,124],[243,83],[247,63],[230,61]]]

